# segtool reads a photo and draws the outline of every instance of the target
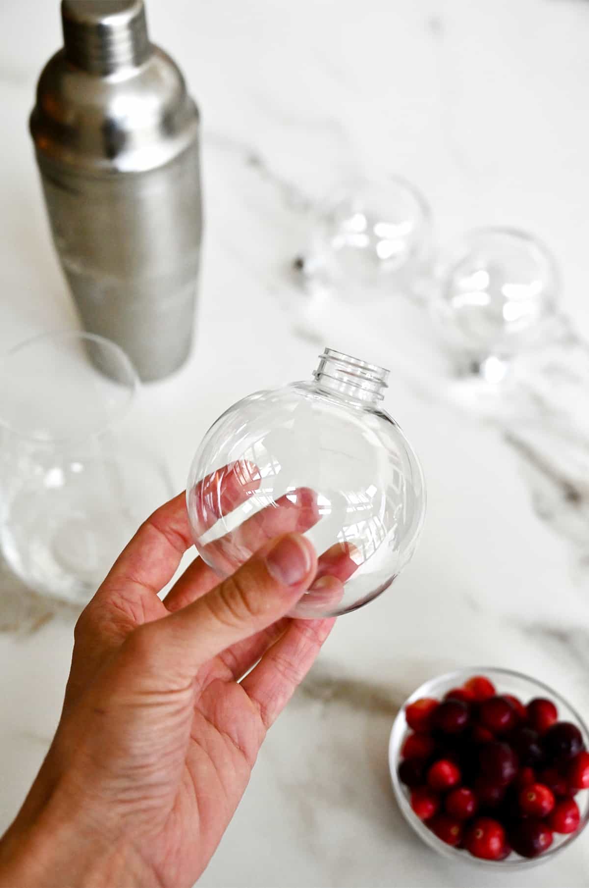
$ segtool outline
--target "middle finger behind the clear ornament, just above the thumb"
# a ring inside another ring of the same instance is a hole
[[[243,522],[231,534],[206,549],[215,563],[220,563],[223,572],[233,574],[237,567],[251,558],[251,555],[275,536],[288,533],[304,533],[319,520],[317,497],[314,491],[298,488],[286,496],[281,496],[275,505],[267,506]],[[195,559],[184,574],[174,583],[163,599],[170,611],[186,607],[205,592],[219,583],[219,576],[203,559]]]

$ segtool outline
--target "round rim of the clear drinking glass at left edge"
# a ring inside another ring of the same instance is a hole
[[[38,333],[36,336],[28,337],[28,339],[23,339],[16,345],[12,345],[12,348],[8,349],[4,353],[0,354],[0,374],[8,367],[11,359],[14,355],[20,353],[26,348],[30,346],[42,344],[44,342],[59,342],[60,340],[77,340],[78,342],[94,342],[99,345],[101,348],[110,351],[116,355],[117,362],[119,366],[123,367],[125,373],[129,376],[129,385],[128,388],[128,396],[124,399],[123,405],[116,408],[113,411],[113,415],[107,419],[105,423],[97,424],[95,429],[91,431],[84,432],[80,436],[77,435],[67,435],[65,437],[52,437],[52,438],[38,438],[35,435],[28,434],[27,432],[21,432],[20,429],[15,428],[12,424],[6,422],[2,416],[1,408],[0,408],[0,431],[7,432],[12,435],[12,437],[17,438],[22,441],[27,441],[28,443],[35,444],[36,447],[56,447],[64,444],[76,443],[80,440],[87,440],[96,435],[103,434],[107,432],[109,428],[112,428],[113,425],[118,423],[123,416],[128,412],[133,400],[135,400],[137,393],[139,392],[140,382],[139,375],[137,370],[135,369],[131,358],[129,355],[121,348],[120,345],[117,345],[113,342],[112,339],[108,339],[107,337],[99,336],[98,333],[89,333],[86,330],[76,330],[76,329],[61,329],[61,330],[52,330],[47,333]],[[90,358],[88,359],[89,362]],[[95,367],[95,365],[92,365]],[[99,368],[95,367],[96,372],[100,373],[104,379],[109,379],[113,385],[119,385],[116,379],[112,377],[108,377],[107,374],[101,373]],[[121,384],[121,387],[123,385]]]

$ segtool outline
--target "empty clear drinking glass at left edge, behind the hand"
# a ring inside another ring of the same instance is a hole
[[[0,361],[0,544],[20,579],[84,604],[171,485],[131,420],[127,355],[76,330]]]

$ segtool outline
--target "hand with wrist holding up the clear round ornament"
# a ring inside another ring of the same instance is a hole
[[[220,476],[203,483],[230,510],[247,491]],[[339,547],[318,567],[300,535],[317,520],[297,491],[249,519],[255,554],[234,575],[218,584],[196,559],[164,601],[192,542],[184,495],[139,528],[76,624],[60,725],[0,843],[0,885],[195,882],[334,622],[284,614],[328,570],[337,599],[355,567]]]

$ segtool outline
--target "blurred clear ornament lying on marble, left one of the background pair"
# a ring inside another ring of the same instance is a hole
[[[431,254],[430,210],[402,178],[338,186],[320,206],[308,255],[295,261],[311,295],[344,301],[410,295]]]

